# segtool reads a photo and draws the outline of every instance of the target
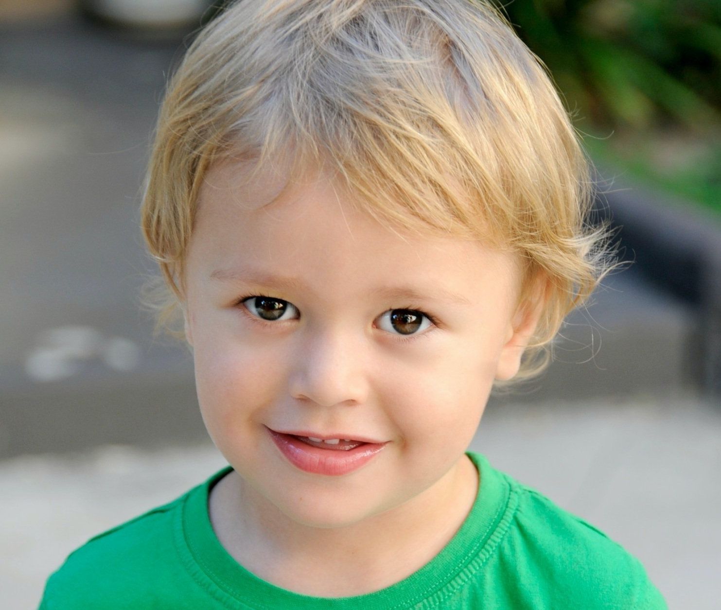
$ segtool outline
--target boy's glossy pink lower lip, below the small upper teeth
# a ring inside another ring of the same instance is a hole
[[[363,443],[348,451],[324,449],[304,443],[290,434],[275,432],[270,428],[268,432],[280,453],[286,456],[293,466],[304,472],[335,477],[365,466],[386,446],[386,443]]]

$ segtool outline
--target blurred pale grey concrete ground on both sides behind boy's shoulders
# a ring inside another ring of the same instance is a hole
[[[721,412],[694,399],[489,407],[472,448],[606,532],[671,609],[718,608]],[[103,446],[0,461],[2,607],[37,606],[90,536],[176,498],[226,464],[206,441]]]

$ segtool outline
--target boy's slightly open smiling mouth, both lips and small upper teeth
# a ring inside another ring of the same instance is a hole
[[[355,438],[320,438],[266,428],[280,453],[294,467],[314,474],[339,476],[358,470],[386,443]]]

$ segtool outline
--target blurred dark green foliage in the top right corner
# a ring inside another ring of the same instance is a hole
[[[513,0],[518,35],[593,125],[721,125],[721,1]]]

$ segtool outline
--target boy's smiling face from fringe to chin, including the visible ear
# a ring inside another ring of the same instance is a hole
[[[351,525],[432,494],[533,330],[516,314],[516,258],[398,234],[323,177],[286,190],[243,177],[241,164],[211,168],[187,257],[211,438],[298,523]],[[358,439],[376,443],[343,450]]]

